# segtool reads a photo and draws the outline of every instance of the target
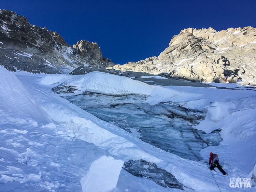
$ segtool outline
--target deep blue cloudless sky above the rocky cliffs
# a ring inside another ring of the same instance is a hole
[[[116,64],[158,56],[184,28],[256,27],[256,0],[1,0],[73,45],[97,42]]]

